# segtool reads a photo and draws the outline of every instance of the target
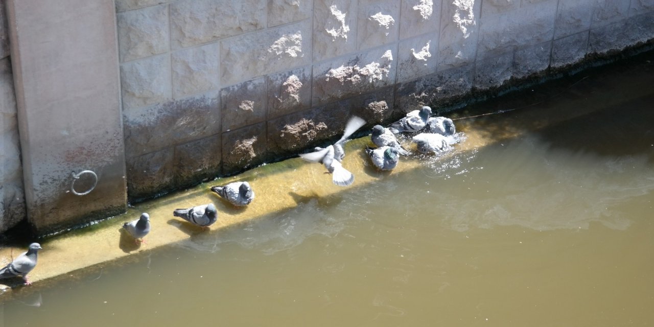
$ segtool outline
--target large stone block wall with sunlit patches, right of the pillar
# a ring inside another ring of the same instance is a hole
[[[131,199],[654,37],[652,0],[116,0]]]

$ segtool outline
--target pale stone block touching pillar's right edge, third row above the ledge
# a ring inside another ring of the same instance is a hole
[[[123,110],[171,99],[170,56],[160,54],[120,65]]]

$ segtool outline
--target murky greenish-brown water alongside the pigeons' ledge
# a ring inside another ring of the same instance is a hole
[[[515,139],[20,288],[0,326],[650,326],[654,69],[612,72],[463,128]]]

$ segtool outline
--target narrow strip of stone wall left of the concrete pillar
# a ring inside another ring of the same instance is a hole
[[[0,233],[25,218],[25,192],[9,56],[5,1],[0,1]]]

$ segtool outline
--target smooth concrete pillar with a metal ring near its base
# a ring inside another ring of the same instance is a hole
[[[7,0],[7,13],[29,224],[44,235],[123,213],[114,1]],[[77,196],[84,170],[97,185]]]

